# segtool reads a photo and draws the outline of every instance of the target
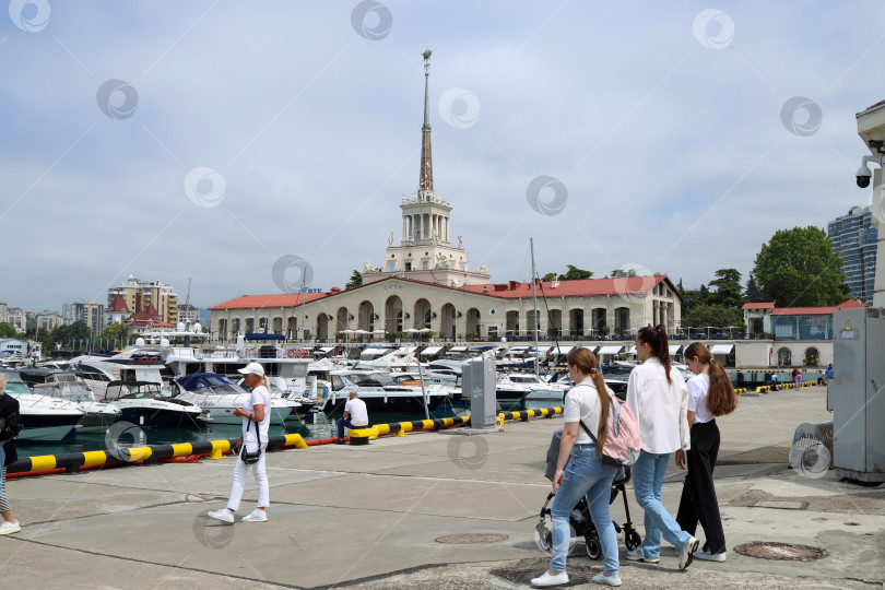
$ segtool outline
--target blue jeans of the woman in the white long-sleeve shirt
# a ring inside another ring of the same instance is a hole
[[[692,535],[683,531],[676,520],[661,504],[661,485],[666,472],[670,453],[656,455],[639,451],[633,465],[633,487],[636,503],[645,510],[646,538],[642,540],[642,557],[657,559],[661,556],[661,534],[676,551],[682,551]]]

